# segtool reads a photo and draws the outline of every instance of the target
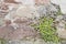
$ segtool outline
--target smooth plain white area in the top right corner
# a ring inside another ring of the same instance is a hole
[[[61,7],[62,13],[66,14],[66,0],[51,0],[53,3],[58,4]]]

